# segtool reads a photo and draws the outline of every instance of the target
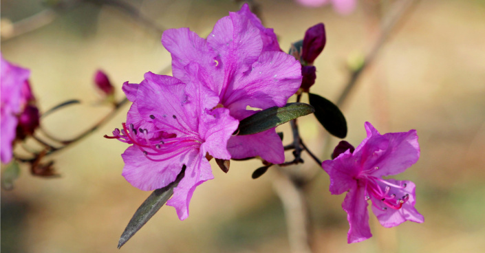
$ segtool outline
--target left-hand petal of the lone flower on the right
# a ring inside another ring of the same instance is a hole
[[[325,160],[322,168],[330,176],[330,192],[339,195],[357,185],[354,179],[360,173],[360,167],[349,150],[333,160]]]

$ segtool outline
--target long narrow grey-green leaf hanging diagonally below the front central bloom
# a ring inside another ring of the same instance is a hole
[[[133,217],[129,221],[127,228],[123,234],[121,234],[120,241],[118,242],[118,249],[121,248],[122,245],[127,243],[131,236],[133,236],[142,226],[153,217],[153,215],[162,208],[162,206],[172,197],[173,195],[173,188],[175,188],[180,180],[184,178],[186,166],[182,167],[182,171],[180,171],[179,175],[175,181],[173,181],[168,186],[164,188],[160,188],[154,190],[151,195],[142,203],[142,205],[136,210]]]

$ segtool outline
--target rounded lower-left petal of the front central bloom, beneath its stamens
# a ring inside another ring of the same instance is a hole
[[[140,190],[156,190],[175,181],[182,166],[193,159],[191,155],[193,153],[182,153],[166,161],[153,162],[143,155],[140,148],[130,146],[121,155],[125,162],[122,176]]]

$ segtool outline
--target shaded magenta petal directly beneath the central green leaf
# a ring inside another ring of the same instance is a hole
[[[269,129],[253,135],[235,135],[230,137],[227,148],[235,159],[255,157],[273,164],[285,162],[285,154],[281,138],[275,129]]]

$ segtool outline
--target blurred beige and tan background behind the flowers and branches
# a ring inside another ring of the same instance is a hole
[[[241,5],[222,0],[124,1],[160,28],[189,27],[204,37],[218,19]],[[303,39],[310,26],[325,23],[327,45],[315,61],[312,92],[335,102],[349,79],[349,65],[371,50],[394,1],[358,0],[347,15],[331,5],[257,3],[283,50]],[[94,89],[96,69],[109,75],[120,99],[123,82],[138,83],[145,72],[169,66],[171,58],[159,30],[100,1],[73,1],[47,15],[45,25],[39,22],[32,32],[8,38],[10,23],[50,4],[56,1],[1,1],[1,52],[8,61],[31,69],[41,111],[69,99],[82,101],[43,121],[53,135],[69,138],[110,111]],[[349,128],[345,140],[354,145],[365,137],[365,121],[381,133],[417,129],[420,160],[394,178],[416,183],[416,208],[425,222],[382,228],[370,215],[374,237],[348,245],[341,208],[345,196],[330,195],[328,175],[305,154],[305,164],[294,169],[315,173],[305,188],[314,252],[485,248],[485,1],[420,1],[405,15],[341,110]],[[308,98],[303,96],[303,101]],[[188,219],[179,221],[173,208],[163,207],[118,250],[121,233],[149,195],[121,176],[120,154],[127,145],[103,138],[120,127],[128,109],[125,105],[83,142],[52,156],[61,177],[34,177],[22,167],[15,188],[1,190],[2,252],[290,252],[283,207],[274,192],[277,173],[270,168],[251,179],[261,166],[258,161],[232,162],[227,174],[213,164],[215,179],[197,187]],[[320,159],[329,159],[323,127],[312,115],[299,124],[306,144]],[[290,142],[289,126],[279,129],[288,137],[283,142]],[[331,146],[337,142],[330,138]]]

